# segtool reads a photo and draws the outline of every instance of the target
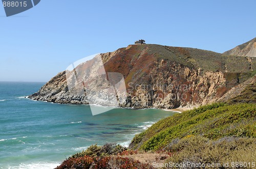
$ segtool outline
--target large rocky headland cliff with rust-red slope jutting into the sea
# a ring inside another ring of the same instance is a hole
[[[216,101],[234,86],[251,78],[256,69],[256,58],[253,57],[154,44],[129,45],[99,57],[106,72],[123,75],[127,99],[118,102],[119,106],[135,108],[193,107]],[[93,62],[82,63],[75,69],[85,72],[81,79],[87,79],[94,87],[82,81],[82,92],[77,92],[78,88],[70,89],[67,77],[81,74],[66,70],[30,97],[55,103],[88,104],[90,99],[100,95],[95,86],[109,85],[101,77],[87,75],[94,74],[96,67],[99,69],[99,66],[90,67]],[[87,92],[87,88],[92,90]]]

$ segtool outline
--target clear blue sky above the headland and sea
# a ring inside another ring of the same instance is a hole
[[[256,1],[41,0],[6,17],[0,81],[48,81],[71,63],[146,43],[224,52],[256,37]]]

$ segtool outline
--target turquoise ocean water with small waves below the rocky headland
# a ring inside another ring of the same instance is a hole
[[[54,168],[92,144],[128,146],[135,134],[175,113],[114,108],[92,116],[89,105],[25,98],[42,85],[0,82],[0,168]]]

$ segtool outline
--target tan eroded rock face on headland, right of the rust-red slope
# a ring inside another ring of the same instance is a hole
[[[124,106],[193,107],[206,104],[226,92],[226,79],[222,72],[205,72],[199,75],[200,70],[175,64],[170,67],[171,70],[166,70],[167,63],[161,64],[162,61],[152,68],[150,83],[135,87],[130,84],[131,102]],[[161,71],[162,69],[165,71]]]

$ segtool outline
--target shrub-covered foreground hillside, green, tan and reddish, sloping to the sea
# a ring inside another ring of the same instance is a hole
[[[256,104],[214,103],[167,117],[137,134],[129,149],[92,145],[57,168],[254,168]],[[191,162],[218,166],[164,165]]]

